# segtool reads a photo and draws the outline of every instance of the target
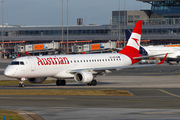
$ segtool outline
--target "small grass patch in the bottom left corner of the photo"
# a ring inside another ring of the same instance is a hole
[[[8,110],[0,110],[0,120],[4,120],[4,116],[6,116],[6,120],[25,120],[21,115],[14,111]]]

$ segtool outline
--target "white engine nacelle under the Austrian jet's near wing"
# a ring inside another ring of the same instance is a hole
[[[79,83],[89,83],[93,80],[93,75],[91,72],[77,72],[74,80]]]

